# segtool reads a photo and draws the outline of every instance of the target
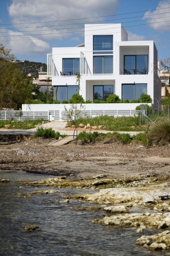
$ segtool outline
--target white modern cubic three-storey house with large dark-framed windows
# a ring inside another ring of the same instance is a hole
[[[69,100],[78,91],[91,101],[106,100],[110,94],[131,101],[142,93],[153,103],[161,100],[155,43],[128,41],[121,24],[85,24],[85,43],[47,54],[47,75],[55,100]]]

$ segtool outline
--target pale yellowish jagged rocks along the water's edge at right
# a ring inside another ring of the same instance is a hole
[[[170,249],[170,174],[115,178],[104,173],[81,179],[57,176],[20,182],[20,185],[59,189],[51,192],[35,190],[28,195],[19,193],[21,199],[38,193],[60,193],[60,188],[86,191],[95,189],[94,193],[65,195],[60,203],[69,205],[69,200],[81,200],[97,204],[77,207],[74,210],[104,211],[103,217],[93,219],[92,223],[115,228],[132,228],[141,233],[141,237],[136,240],[137,246],[148,250]],[[153,230],[155,234],[144,236],[144,230]]]

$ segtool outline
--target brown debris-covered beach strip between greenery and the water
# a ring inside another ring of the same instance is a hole
[[[0,143],[0,169],[79,177],[170,172],[170,146],[145,149],[133,144],[75,145],[71,142],[47,147],[49,142],[51,140],[38,138]]]

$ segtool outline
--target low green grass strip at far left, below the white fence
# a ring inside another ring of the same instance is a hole
[[[30,120],[25,119],[24,121],[10,121],[10,120],[0,120],[0,128],[6,129],[32,129],[35,128],[37,124],[41,124],[43,119]]]

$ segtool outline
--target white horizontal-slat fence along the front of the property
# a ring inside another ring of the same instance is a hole
[[[63,110],[49,111],[0,111],[0,120],[23,121],[25,119],[44,119],[50,120],[52,115],[55,121],[66,121],[66,112]],[[100,115],[111,116],[133,116],[137,115],[139,110],[85,110],[82,111],[84,117],[96,117]]]

